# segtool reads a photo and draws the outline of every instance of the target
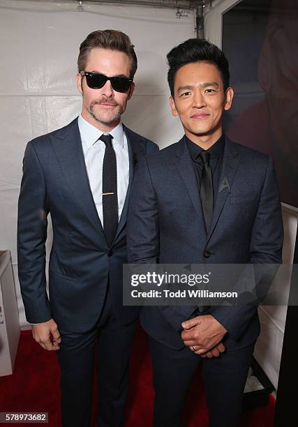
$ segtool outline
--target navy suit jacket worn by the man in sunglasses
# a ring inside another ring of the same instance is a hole
[[[128,197],[135,163],[158,147],[125,126],[124,131],[129,183],[111,248],[89,187],[77,119],[27,144],[17,238],[19,278],[28,322],[40,323],[53,317],[64,331],[87,331],[96,324],[103,308],[109,276],[114,314],[124,324],[137,316],[136,308],[122,304]],[[53,228],[50,301],[45,277],[48,213]]]

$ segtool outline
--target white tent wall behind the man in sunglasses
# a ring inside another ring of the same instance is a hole
[[[75,2],[0,0],[0,248],[12,253],[22,327],[16,231],[24,149],[33,137],[80,113],[75,84],[80,43],[91,31],[109,28],[130,36],[139,63],[124,123],[160,147],[179,140],[183,130],[168,106],[165,55],[195,36],[193,12],[177,19],[174,9],[86,3],[80,12]]]

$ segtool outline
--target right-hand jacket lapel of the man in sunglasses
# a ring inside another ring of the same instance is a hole
[[[135,165],[137,163],[137,156],[146,155],[146,141],[142,140],[140,137],[137,137],[137,134],[135,134],[130,129],[126,128],[126,126],[123,125],[123,128],[126,134],[126,139],[128,144],[129,181],[128,181],[128,188],[127,188],[126,197],[124,201],[124,207],[121,212],[114,243],[117,241],[117,237],[119,237],[119,234],[121,233],[121,230],[123,230],[124,225],[126,225],[128,202],[129,202],[129,196],[131,193],[131,184],[133,183]]]

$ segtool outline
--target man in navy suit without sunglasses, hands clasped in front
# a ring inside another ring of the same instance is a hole
[[[128,261],[278,264],[283,225],[271,158],[223,135],[229,66],[207,40],[167,55],[170,107],[185,135],[137,165],[128,208]],[[210,427],[236,427],[255,340],[256,306],[146,306],[155,427],[181,426],[199,364]]]

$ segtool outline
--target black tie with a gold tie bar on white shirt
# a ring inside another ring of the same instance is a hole
[[[103,158],[103,232],[107,244],[112,246],[118,227],[117,161],[112,146],[112,135],[101,135],[105,143]]]

